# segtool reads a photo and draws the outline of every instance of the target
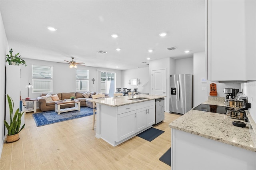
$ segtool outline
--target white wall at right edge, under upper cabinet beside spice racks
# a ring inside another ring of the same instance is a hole
[[[243,94],[248,97],[248,103],[252,103],[252,108],[248,109],[252,119],[256,122],[256,81],[243,83],[241,85]]]

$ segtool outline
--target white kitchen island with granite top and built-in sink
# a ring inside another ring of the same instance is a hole
[[[134,95],[93,99],[96,103],[96,138],[116,146],[155,124],[155,99],[165,96]]]

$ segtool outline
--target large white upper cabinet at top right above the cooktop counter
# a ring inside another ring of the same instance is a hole
[[[255,9],[255,1],[208,0],[208,80],[256,79]]]

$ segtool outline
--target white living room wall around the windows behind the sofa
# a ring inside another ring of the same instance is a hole
[[[53,66],[52,93],[76,91],[76,70],[70,69],[68,67],[68,64],[35,60],[35,59],[24,59],[24,60],[26,61],[27,66],[25,67],[24,65],[22,65],[21,67],[20,91],[21,91],[22,99],[28,96],[28,89],[25,88],[26,85],[28,83],[32,83],[32,70],[31,70],[32,64]],[[97,70],[116,72],[116,86],[120,86],[122,84],[122,71],[120,70],[112,70],[112,69],[106,70],[99,67],[88,67],[84,65],[79,65],[78,69],[89,70],[89,91],[96,91],[96,92],[100,91],[100,71],[97,71]],[[94,81],[94,84],[92,83],[92,78],[96,79],[96,81]],[[30,89],[30,93],[29,93],[30,98],[36,98],[39,96],[40,96],[40,93],[32,93],[32,89]]]

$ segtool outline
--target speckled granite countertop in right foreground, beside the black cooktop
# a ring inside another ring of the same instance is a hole
[[[224,97],[209,97],[204,104],[224,106]],[[247,113],[247,111],[246,111]],[[190,110],[169,124],[170,128],[256,152],[256,124],[250,113],[246,127],[236,127],[227,115]]]

